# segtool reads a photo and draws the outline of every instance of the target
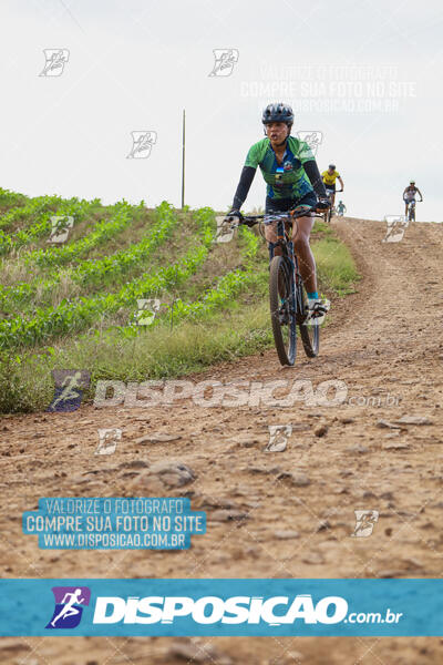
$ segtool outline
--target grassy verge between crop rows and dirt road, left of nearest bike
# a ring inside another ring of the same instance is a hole
[[[145,381],[203,370],[222,360],[234,360],[268,348],[271,332],[267,303],[218,311],[199,324],[185,321],[143,330],[133,339],[109,331],[84,337],[55,349],[33,355],[24,364],[0,364],[0,410],[30,412],[48,408],[53,397],[52,369],[87,368],[91,386],[84,400],[92,400],[99,379]]]

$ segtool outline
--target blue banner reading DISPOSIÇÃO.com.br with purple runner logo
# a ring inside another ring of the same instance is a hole
[[[441,636],[442,580],[1,580],[0,635]]]

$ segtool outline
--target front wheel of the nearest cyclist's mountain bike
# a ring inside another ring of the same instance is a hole
[[[269,305],[274,341],[281,365],[293,365],[297,326],[293,301],[293,273],[287,259],[275,256],[269,270]]]

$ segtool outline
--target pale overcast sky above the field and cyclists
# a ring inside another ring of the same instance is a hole
[[[348,214],[402,212],[414,178],[441,222],[442,18],[441,0],[2,0],[0,186],[179,206],[186,109],[185,202],[227,209],[261,109],[286,101]],[[234,64],[209,75],[215,49]],[[146,158],[132,132],[153,132]],[[264,198],[257,172],[244,208]]]

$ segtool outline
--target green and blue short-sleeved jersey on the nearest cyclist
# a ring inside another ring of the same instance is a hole
[[[309,145],[288,136],[282,162],[278,165],[269,139],[262,139],[249,149],[245,166],[260,167],[269,198],[301,198],[313,191],[303,168],[305,162],[311,160],[315,156]]]

